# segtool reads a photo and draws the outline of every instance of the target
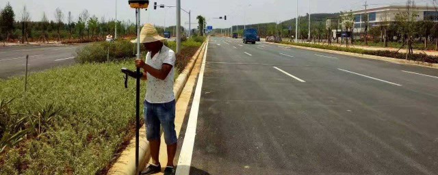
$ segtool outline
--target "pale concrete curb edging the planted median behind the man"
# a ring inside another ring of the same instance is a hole
[[[184,70],[179,74],[177,79],[175,80],[175,84],[173,85],[173,93],[175,94],[175,99],[178,100],[185,83],[188,80],[190,72],[194,68],[194,64],[196,59],[203,56],[203,52],[205,50],[205,46],[207,46],[208,39],[206,39],[201,47],[196,51],[193,55],[192,59],[187,66],[185,66]],[[146,162],[149,161],[151,157],[151,152],[149,150],[149,142],[146,140],[146,127],[143,125],[140,128],[140,142],[139,142],[139,155],[138,158],[138,167],[139,171],[146,165]],[[120,153],[120,157],[117,159],[116,163],[112,165],[108,174],[124,174],[124,175],[133,175],[136,173],[136,137],[133,137],[129,142],[129,145],[123,152]]]

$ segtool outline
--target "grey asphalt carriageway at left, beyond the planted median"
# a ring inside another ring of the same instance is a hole
[[[75,64],[73,53],[81,46],[1,46],[0,79],[25,75],[26,55],[29,72]]]

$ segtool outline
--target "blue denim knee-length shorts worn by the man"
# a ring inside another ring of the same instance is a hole
[[[159,139],[160,124],[164,132],[166,145],[177,143],[175,131],[175,100],[168,103],[149,103],[144,100],[144,122],[146,124],[146,139]]]

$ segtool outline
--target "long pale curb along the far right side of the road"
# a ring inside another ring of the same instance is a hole
[[[423,66],[427,68],[438,68],[438,64],[428,63],[428,62],[419,62],[419,61],[413,61],[413,60],[407,60],[407,59],[397,59],[392,57],[381,57],[376,55],[366,55],[361,53],[350,53],[350,52],[344,52],[344,51],[333,51],[328,49],[318,49],[313,47],[307,47],[307,46],[295,46],[291,44],[281,44],[281,43],[274,43],[274,42],[268,42],[271,44],[281,45],[281,46],[292,46],[294,48],[298,49],[307,49],[311,51],[321,51],[326,53],[336,53],[339,55],[349,55],[349,56],[355,56],[355,57],[362,57],[362,58],[368,58],[368,59],[378,59],[386,62],[393,62],[393,63],[401,63],[401,64],[408,64],[408,65],[414,65],[414,66]]]

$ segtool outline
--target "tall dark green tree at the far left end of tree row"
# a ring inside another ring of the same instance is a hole
[[[0,12],[0,29],[1,33],[6,33],[6,41],[9,40],[12,31],[14,31],[14,10],[8,2]]]

